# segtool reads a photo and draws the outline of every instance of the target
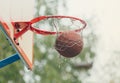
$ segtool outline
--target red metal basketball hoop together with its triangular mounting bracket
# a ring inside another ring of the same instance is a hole
[[[52,23],[56,31],[48,31],[44,29],[35,28],[33,26],[37,22],[41,22],[41,21],[46,22],[48,20],[50,20],[50,23]],[[66,30],[80,32],[86,27],[85,21],[81,20],[80,18],[71,17],[71,16],[40,16],[32,19],[29,22],[12,22],[12,24],[15,28],[14,40],[17,40],[28,30],[40,35],[54,35],[54,34],[60,34]],[[58,28],[61,29],[61,27],[64,28],[62,30],[57,30]]]

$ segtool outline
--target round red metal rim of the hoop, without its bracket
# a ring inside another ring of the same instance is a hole
[[[84,26],[82,28],[74,30],[75,32],[80,32],[87,25],[84,20],[82,20],[80,18],[72,17],[72,16],[40,16],[40,17],[36,17],[36,18],[34,18],[34,19],[32,19],[30,21],[30,24],[31,24],[30,30],[33,31],[33,32],[35,32],[36,34],[41,34],[41,35],[54,35],[56,33],[61,33],[61,32],[54,32],[54,31],[40,30],[40,29],[37,29],[37,28],[35,28],[35,27],[32,26],[32,24],[34,24],[34,23],[36,23],[38,21],[41,21],[41,20],[48,19],[48,18],[70,18],[70,19],[74,19],[74,20],[79,20],[82,24],[84,24]]]

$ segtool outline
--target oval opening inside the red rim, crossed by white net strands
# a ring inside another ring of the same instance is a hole
[[[33,24],[33,27],[44,31],[64,32],[81,29],[84,27],[84,24],[72,18],[47,18]]]

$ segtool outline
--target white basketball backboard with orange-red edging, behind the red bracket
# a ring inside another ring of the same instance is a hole
[[[29,3],[29,4],[27,4]],[[27,4],[27,6],[26,6]],[[0,25],[12,47],[18,53],[22,62],[28,69],[33,67],[33,32],[27,31],[14,41],[15,28],[12,22],[29,21],[34,15],[34,0],[8,0],[0,1]]]

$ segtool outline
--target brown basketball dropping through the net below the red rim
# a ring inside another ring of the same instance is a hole
[[[63,32],[56,38],[55,49],[64,57],[77,56],[83,48],[83,40],[75,31]]]

